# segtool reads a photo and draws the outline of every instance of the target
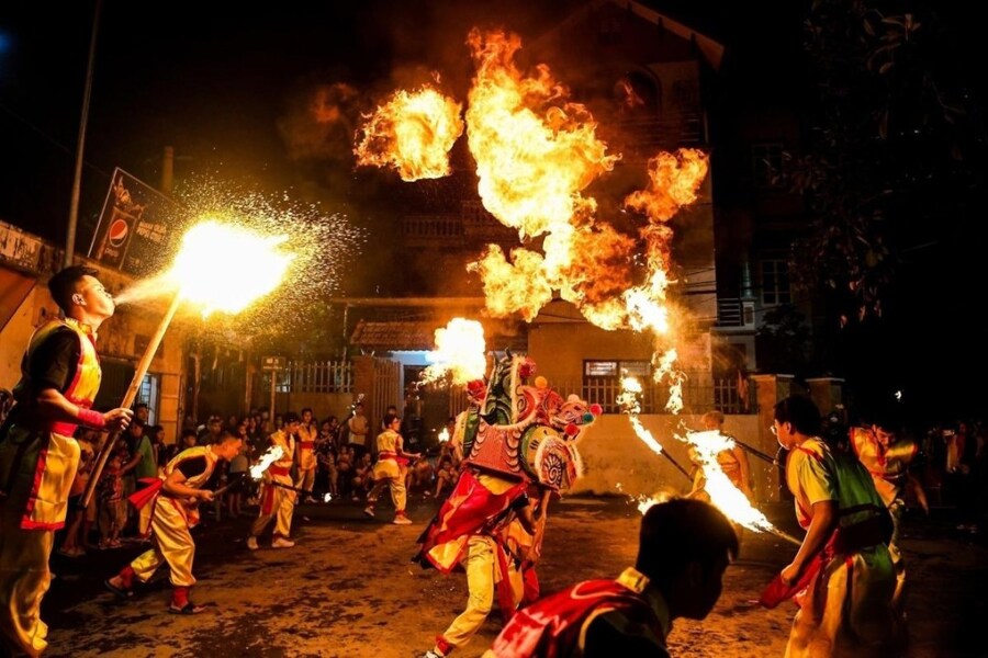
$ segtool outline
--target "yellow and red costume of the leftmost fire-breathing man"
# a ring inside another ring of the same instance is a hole
[[[47,646],[40,612],[52,580],[48,558],[79,466],[77,426],[44,418],[34,398],[56,388],[89,409],[101,377],[96,333],[71,318],[47,322],[31,337],[16,401],[0,429],[0,631],[31,656]]]

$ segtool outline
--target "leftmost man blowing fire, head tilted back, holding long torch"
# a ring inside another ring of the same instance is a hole
[[[0,427],[0,632],[29,656],[47,646],[41,603],[52,580],[54,534],[65,524],[79,464],[72,434],[78,426],[121,431],[132,417],[130,409],[90,409],[102,376],[97,331],[114,311],[97,274],[71,265],[48,281],[65,319],[31,337],[14,406]]]

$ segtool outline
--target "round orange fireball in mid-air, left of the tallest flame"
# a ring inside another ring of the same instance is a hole
[[[431,87],[397,91],[363,118],[357,164],[392,168],[403,181],[449,175],[449,150],[463,134],[462,105]]]

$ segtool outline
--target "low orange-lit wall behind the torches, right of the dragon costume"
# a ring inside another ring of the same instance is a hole
[[[675,438],[686,430],[699,430],[699,416],[639,416],[642,426],[687,472],[686,444]],[[727,416],[723,431],[739,441],[774,456],[774,439],[765,445],[757,416]],[[641,441],[631,428],[627,416],[604,415],[584,430],[576,447],[583,457],[584,476],[572,494],[624,494],[651,496],[656,491],[686,494],[692,481],[680,473],[669,460],[655,454]],[[754,492],[759,501],[777,500],[776,468],[763,460],[749,455],[754,479]]]

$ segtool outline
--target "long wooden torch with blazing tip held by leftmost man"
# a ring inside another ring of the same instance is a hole
[[[165,332],[182,302],[188,300],[202,307],[203,317],[212,310],[235,314],[255,299],[273,291],[284,279],[291,254],[274,247],[288,236],[261,236],[245,228],[216,222],[204,222],[193,226],[182,238],[182,248],[171,269],[160,277],[160,288],[175,291],[171,303],[147,349],[137,363],[134,377],[121,402],[130,408],[137,397],[141,383],[150,367],[151,360]],[[249,268],[225,268],[215,260],[217,245],[239,253]],[[110,461],[119,433],[113,432],[103,443],[93,465],[86,490],[80,498],[80,507],[86,508],[92,500],[100,475]]]

